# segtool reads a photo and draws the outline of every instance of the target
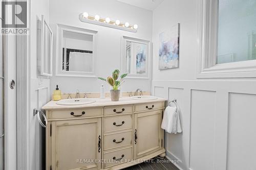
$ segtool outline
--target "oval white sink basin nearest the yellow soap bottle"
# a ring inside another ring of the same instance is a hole
[[[56,102],[57,105],[85,105],[96,102],[93,99],[79,98],[79,99],[63,99]]]

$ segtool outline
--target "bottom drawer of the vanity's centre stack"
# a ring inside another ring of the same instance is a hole
[[[104,153],[104,160],[108,160],[108,162],[103,163],[103,168],[131,161],[133,158],[132,155],[132,147],[112,152],[106,152]]]

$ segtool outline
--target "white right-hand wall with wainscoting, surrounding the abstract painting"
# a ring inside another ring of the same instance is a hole
[[[165,0],[153,11],[152,92],[177,99],[183,132],[165,134],[167,156],[181,169],[256,168],[254,78],[197,79],[199,57],[196,1]],[[180,22],[180,66],[158,70],[159,33]]]

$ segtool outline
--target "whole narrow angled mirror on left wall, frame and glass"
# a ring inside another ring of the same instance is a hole
[[[40,28],[40,75],[49,77],[52,76],[53,33],[44,15],[41,15],[41,21],[38,23],[38,28]]]

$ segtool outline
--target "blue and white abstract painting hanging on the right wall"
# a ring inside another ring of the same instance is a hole
[[[179,36],[180,23],[159,34],[158,68],[160,70],[179,67]]]

